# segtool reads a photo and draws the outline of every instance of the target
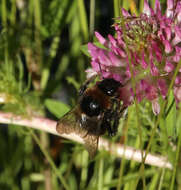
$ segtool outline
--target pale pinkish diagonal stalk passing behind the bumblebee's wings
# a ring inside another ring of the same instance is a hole
[[[67,134],[60,135],[56,131],[57,122],[43,117],[32,117],[31,119],[28,119],[12,113],[0,112],[0,123],[31,127],[54,135],[61,136],[69,140],[76,141],[81,144],[84,143],[83,139],[81,139],[76,134],[72,133],[69,135]],[[110,141],[104,138],[99,139],[98,149],[105,149],[109,151],[111,154],[114,154],[120,158],[124,157],[127,160],[142,162],[141,150],[126,145],[121,145],[118,143],[117,144],[111,143]],[[144,151],[143,154],[145,154]],[[168,161],[167,157],[161,155],[148,154],[145,163],[148,165],[157,166],[161,168],[173,169],[173,166]]]

